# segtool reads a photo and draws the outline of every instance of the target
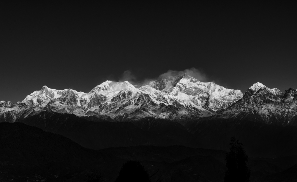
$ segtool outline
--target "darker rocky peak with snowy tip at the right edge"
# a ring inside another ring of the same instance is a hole
[[[277,88],[270,89],[258,82],[246,91],[241,100],[208,119],[250,120],[285,126],[297,125],[296,115],[295,88],[289,88],[284,94]]]

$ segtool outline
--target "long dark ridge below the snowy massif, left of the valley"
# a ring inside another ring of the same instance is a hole
[[[135,145],[169,146],[184,144],[189,137],[189,133],[182,126],[175,130],[181,136],[177,138],[174,132],[169,135],[145,131],[130,122],[92,122],[73,114],[53,111],[32,114],[19,122],[60,134],[91,149]]]

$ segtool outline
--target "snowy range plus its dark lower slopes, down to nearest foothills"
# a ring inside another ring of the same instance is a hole
[[[229,138],[236,136],[249,145],[249,154],[277,157],[297,152],[296,98],[294,88],[282,93],[258,82],[242,94],[184,74],[140,88],[106,81],[89,93],[44,86],[22,102],[1,101],[0,122],[36,126],[90,149],[185,145],[228,150]]]

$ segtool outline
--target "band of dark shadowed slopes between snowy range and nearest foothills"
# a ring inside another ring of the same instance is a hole
[[[184,126],[151,117],[131,122],[92,122],[53,111],[42,111],[19,122],[63,135],[90,149],[184,145],[228,151],[230,138],[236,136],[253,157],[297,154],[297,126],[217,118],[199,118]]]

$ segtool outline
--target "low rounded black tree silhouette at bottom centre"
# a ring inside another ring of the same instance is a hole
[[[115,182],[150,182],[149,174],[144,169],[143,165],[137,161],[128,161],[123,164],[123,167],[120,170],[119,176],[116,178]]]

